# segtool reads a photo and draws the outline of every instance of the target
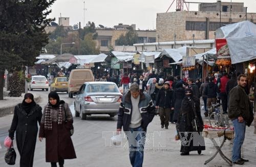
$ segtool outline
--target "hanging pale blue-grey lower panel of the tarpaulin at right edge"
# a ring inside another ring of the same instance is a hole
[[[256,36],[227,38],[231,63],[256,59]]]

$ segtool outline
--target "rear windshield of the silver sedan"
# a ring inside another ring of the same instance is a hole
[[[87,92],[119,92],[114,84],[91,84],[87,87]]]

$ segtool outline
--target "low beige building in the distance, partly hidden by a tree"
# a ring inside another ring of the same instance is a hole
[[[135,51],[135,46],[118,46],[116,40],[123,34],[125,35],[129,30],[127,28],[136,28],[135,25],[128,26],[119,23],[114,28],[97,28],[96,33],[98,37],[96,39],[97,47],[100,52],[109,52],[110,48],[114,51]],[[136,30],[138,33],[138,43],[156,42],[156,31],[150,30]]]

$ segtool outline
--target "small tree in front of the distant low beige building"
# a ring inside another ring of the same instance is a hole
[[[138,33],[131,27],[125,35],[120,35],[116,41],[117,45],[133,45],[138,42]]]

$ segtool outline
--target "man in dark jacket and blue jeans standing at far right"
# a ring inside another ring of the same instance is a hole
[[[232,162],[234,164],[244,164],[249,160],[241,157],[241,148],[245,138],[245,126],[248,127],[253,121],[252,106],[244,88],[247,84],[247,77],[241,74],[237,78],[238,85],[231,89],[229,93],[228,117],[234,126],[234,141],[232,151]]]

